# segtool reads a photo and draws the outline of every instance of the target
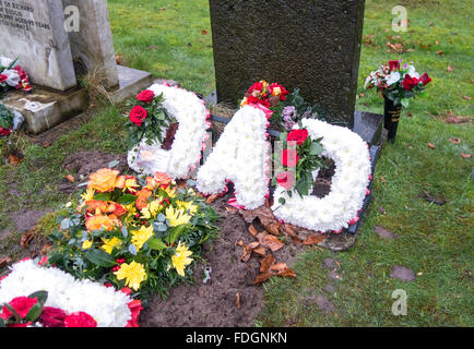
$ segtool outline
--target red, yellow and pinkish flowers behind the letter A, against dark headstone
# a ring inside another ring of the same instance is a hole
[[[287,91],[277,83],[266,81],[254,83],[240,103],[244,106],[260,105],[271,111],[270,122],[280,131],[291,131],[303,119],[323,119],[324,112],[317,106],[308,105],[299,88]]]

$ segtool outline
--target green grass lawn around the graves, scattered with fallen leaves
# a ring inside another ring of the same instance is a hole
[[[109,0],[109,15],[117,55],[125,64],[151,71],[157,77],[179,81],[189,89],[214,89],[214,67],[208,1]],[[391,9],[408,11],[406,33],[391,32]],[[365,76],[381,62],[394,58],[414,61],[434,79],[427,98],[403,111],[395,145],[387,145],[377,165],[370,212],[357,243],[334,254],[312,249],[299,256],[296,279],[275,278],[264,285],[265,306],[259,326],[472,326],[473,322],[473,198],[471,179],[472,122],[448,124],[448,115],[472,117],[473,15],[471,2],[422,0],[367,0],[357,109],[382,112],[382,100],[363,89]],[[388,29],[388,32],[387,32]],[[386,44],[400,43],[403,53],[387,52]],[[442,50],[441,52],[439,52]],[[438,53],[436,53],[438,51]],[[448,67],[452,71],[448,71]],[[68,197],[57,184],[67,174],[61,167],[68,154],[82,149],[126,151],[121,106],[99,104],[87,124],[43,148],[26,137],[15,140],[25,161],[0,166],[0,231],[14,232],[0,242],[0,257],[9,255],[20,236],[11,215],[26,206],[60,208]],[[410,115],[408,115],[410,111]],[[450,137],[461,140],[459,145]],[[435,145],[435,149],[428,147]],[[12,184],[16,193],[10,193]],[[442,206],[418,195],[428,191],[447,200]],[[26,204],[25,204],[26,202]],[[382,206],[387,214],[378,208]],[[42,221],[48,230],[54,217]],[[396,240],[382,240],[374,228],[382,226]],[[15,252],[16,253],[16,252]],[[21,256],[11,255],[14,258]],[[324,258],[340,263],[342,279],[330,282]],[[390,278],[395,265],[419,274],[415,281]],[[0,273],[5,269],[0,269]],[[408,296],[407,316],[391,312],[392,292]],[[324,294],[335,305],[332,314],[305,300]]]

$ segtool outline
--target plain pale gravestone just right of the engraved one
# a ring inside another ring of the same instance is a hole
[[[78,10],[79,23],[69,32],[71,51],[76,67],[103,74],[106,87],[119,85],[114,41],[108,17],[107,1],[62,0],[64,9]],[[66,11],[68,13],[68,11]],[[74,20],[74,19],[72,19]],[[73,23],[75,24],[75,23]]]

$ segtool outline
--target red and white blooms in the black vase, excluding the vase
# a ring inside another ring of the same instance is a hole
[[[394,106],[408,107],[410,98],[425,92],[425,86],[431,82],[427,73],[422,76],[412,64],[403,64],[402,60],[390,61],[370,73],[365,88],[377,87],[384,98],[393,101]]]

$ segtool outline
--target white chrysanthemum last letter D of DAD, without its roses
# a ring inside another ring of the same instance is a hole
[[[323,198],[311,195],[301,198],[298,194],[289,197],[279,186],[272,209],[285,222],[320,232],[340,232],[357,220],[368,194],[371,167],[367,143],[346,128],[315,119],[304,119],[301,122],[312,140],[322,137],[322,155],[335,163],[331,192]],[[285,200],[284,205],[279,203],[282,197]]]

